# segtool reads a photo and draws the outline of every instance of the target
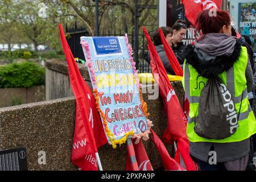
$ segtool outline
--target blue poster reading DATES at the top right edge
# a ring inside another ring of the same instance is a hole
[[[238,3],[238,32],[248,36],[256,52],[256,2]]]

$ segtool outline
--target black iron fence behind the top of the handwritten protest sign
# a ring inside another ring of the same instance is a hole
[[[99,36],[124,36],[125,33],[119,32],[100,32]],[[90,36],[89,32],[86,30],[85,27],[71,27],[68,28],[66,26],[66,38],[71,48],[74,57],[79,57],[79,59],[85,60],[84,53],[82,52],[82,46],[80,44],[80,37],[81,36]],[[135,40],[134,32],[127,32],[127,36],[131,46],[133,47],[133,43]],[[137,68],[139,73],[151,73],[150,65],[144,59],[144,55],[147,55],[147,42],[145,42],[144,35],[139,35],[139,48],[135,49],[133,47],[133,52],[138,52],[138,60],[134,60],[137,62]]]

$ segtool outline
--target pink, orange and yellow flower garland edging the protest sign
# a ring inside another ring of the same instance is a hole
[[[92,59],[91,59],[91,55],[90,55],[90,47],[89,47],[89,43],[86,42],[86,40],[82,39],[84,37],[81,37],[81,44],[82,47],[84,48],[84,53],[86,54],[86,63],[85,63],[85,67],[87,66],[89,69],[89,73],[90,73],[90,78],[93,82],[93,85],[96,85],[96,76],[95,73],[93,71],[93,63],[92,63]],[[131,65],[132,65],[132,69],[133,69],[133,74],[135,77],[135,84],[138,86],[138,90],[139,90],[139,94],[140,94],[140,100],[141,100],[141,104],[142,104],[142,110],[143,113],[147,119],[147,127],[148,130],[140,133],[140,134],[135,134],[133,130],[129,131],[128,133],[124,134],[124,136],[121,139],[114,139],[114,134],[111,132],[111,130],[108,127],[108,121],[106,121],[106,117],[104,112],[101,110],[100,104],[99,104],[99,96],[98,96],[98,90],[97,90],[97,86],[93,89],[94,92],[94,97],[96,100],[96,107],[98,112],[100,113],[101,119],[102,119],[102,124],[104,126],[104,130],[105,130],[105,134],[107,135],[107,137],[110,139],[110,142],[112,143],[112,147],[116,148],[117,144],[121,145],[123,143],[126,142],[127,137],[131,136],[131,138],[135,138],[136,139],[136,144],[139,143],[139,139],[143,139],[143,140],[148,140],[148,134],[150,134],[150,129],[152,126],[152,121],[150,121],[150,119],[148,119],[148,116],[150,115],[147,112],[147,103],[144,102],[143,97],[142,97],[142,84],[139,83],[139,78],[138,78],[138,70],[136,70],[135,67],[135,62],[133,59],[133,49],[131,47],[131,44],[129,43],[128,40],[128,36],[127,34],[125,34],[125,40],[126,40],[126,46],[128,48],[129,51],[129,57],[130,57],[130,61],[131,61]]]

